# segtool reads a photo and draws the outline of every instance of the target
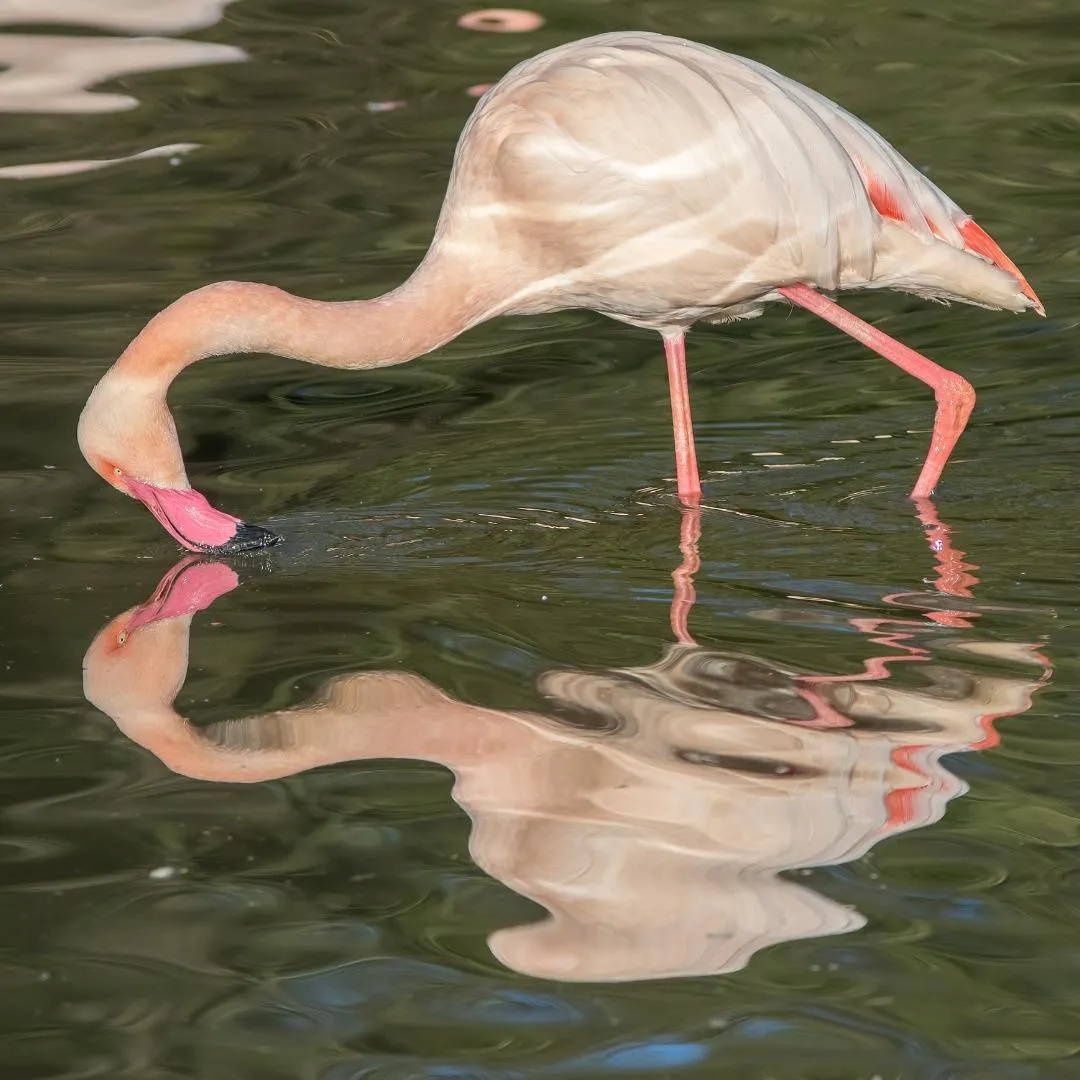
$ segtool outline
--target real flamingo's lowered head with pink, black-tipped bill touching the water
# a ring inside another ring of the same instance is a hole
[[[188,551],[231,555],[281,541],[270,529],[215,510],[191,487],[158,380],[108,372],[79,418],[79,448],[106,483],[145,503]]]

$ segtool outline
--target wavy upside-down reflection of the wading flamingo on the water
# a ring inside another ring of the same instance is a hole
[[[730,971],[769,944],[858,928],[858,913],[778,872],[856,859],[937,820],[963,789],[941,756],[985,745],[989,720],[1027,708],[1045,667],[1026,647],[987,643],[969,647],[1041,666],[987,676],[926,663],[918,639],[933,623],[901,619],[863,627],[893,654],[854,676],[684,640],[648,667],[546,673],[540,689],[563,719],[372,673],[334,679],[308,705],[194,728],[172,707],[191,615],[235,583],[222,564],[181,563],[97,635],[87,698],[170,768],[206,780],[378,757],[447,766],[476,863],[550,913],[497,932],[494,951],[558,978]],[[684,589],[674,607],[687,603]],[[888,681],[902,660],[924,662],[924,687]]]

